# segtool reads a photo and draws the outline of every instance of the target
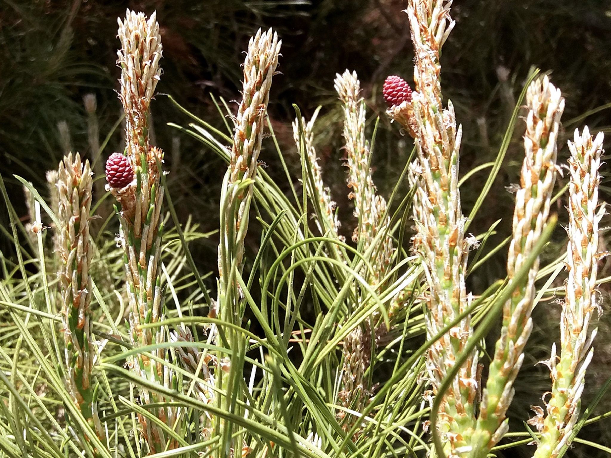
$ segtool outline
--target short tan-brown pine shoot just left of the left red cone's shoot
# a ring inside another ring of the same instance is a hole
[[[83,164],[78,153],[64,157],[57,172],[59,227],[56,233],[61,261],[58,275],[62,294],[66,382],[72,400],[102,437],[91,374],[95,357],[89,309],[93,294],[89,274],[93,258],[93,241],[89,235],[91,188],[89,161]]]

